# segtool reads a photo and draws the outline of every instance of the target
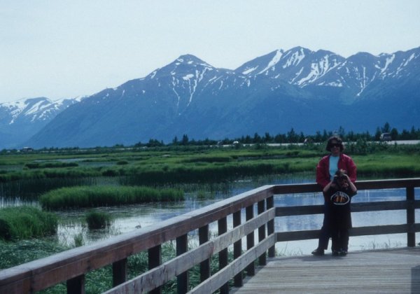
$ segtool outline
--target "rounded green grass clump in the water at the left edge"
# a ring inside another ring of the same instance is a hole
[[[36,207],[0,209],[0,239],[11,241],[53,235],[58,217]]]

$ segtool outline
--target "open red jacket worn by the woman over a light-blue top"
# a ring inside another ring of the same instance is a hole
[[[330,183],[330,156],[326,155],[319,160],[316,165],[316,183],[321,188],[327,186]],[[349,155],[340,154],[338,160],[338,169],[344,169],[349,176],[350,181],[356,182],[356,165]]]

